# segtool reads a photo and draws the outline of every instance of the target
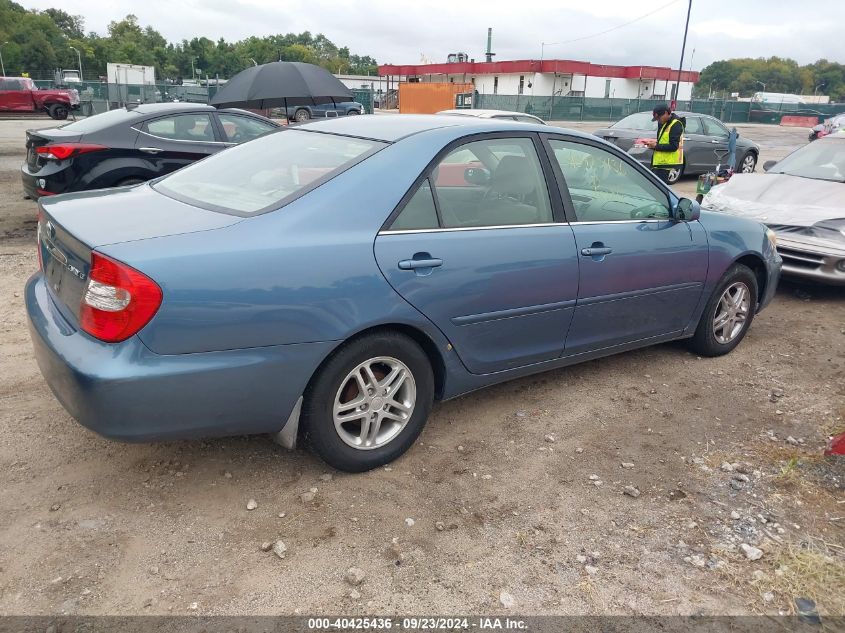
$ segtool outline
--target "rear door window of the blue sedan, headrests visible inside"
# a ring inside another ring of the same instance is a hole
[[[475,141],[433,170],[445,228],[552,222],[549,192],[529,138]]]

